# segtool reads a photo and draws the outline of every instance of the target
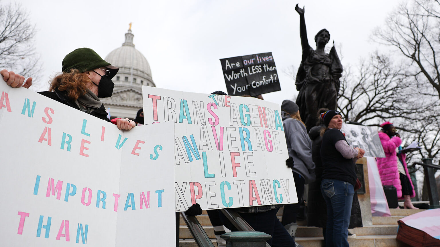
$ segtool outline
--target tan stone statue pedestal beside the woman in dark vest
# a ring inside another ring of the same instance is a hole
[[[356,165],[361,165],[363,168],[362,171],[358,171],[358,178],[361,182],[363,188],[358,190],[364,189],[364,194],[358,194],[358,200],[360,205],[360,211],[362,214],[362,225],[373,225],[372,222],[372,216],[371,216],[371,202],[370,202],[370,183],[368,182],[368,167],[367,167],[367,158],[362,158],[357,160]],[[360,168],[360,167],[358,167]],[[359,176],[359,173],[363,173],[363,181],[362,178]]]

